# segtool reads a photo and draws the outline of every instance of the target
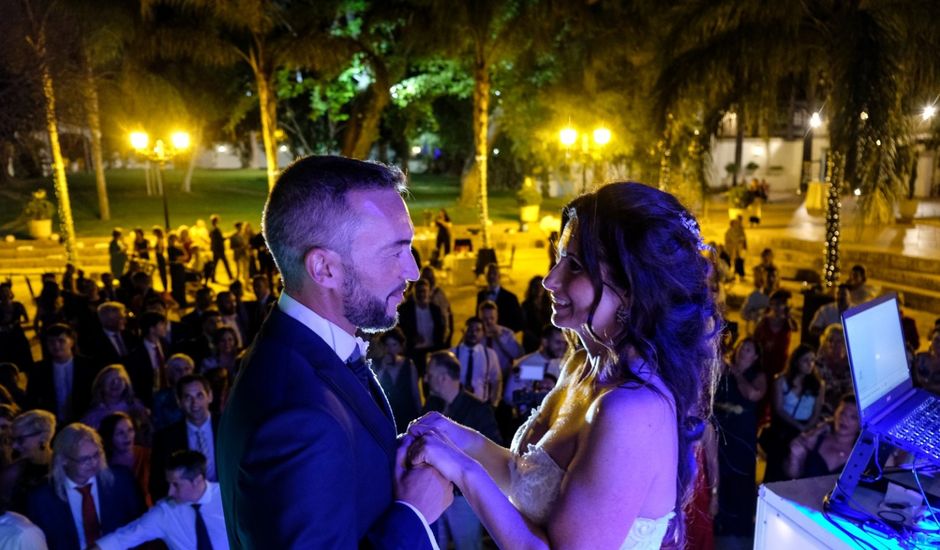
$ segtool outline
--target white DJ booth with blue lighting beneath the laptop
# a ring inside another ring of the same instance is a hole
[[[902,507],[905,497],[923,502],[909,472],[886,473],[881,483],[859,485],[852,494],[853,507],[871,516],[867,521],[851,521],[824,510],[827,495],[835,487],[837,475],[768,483],[760,487],[757,500],[755,549],[810,550],[815,548],[940,548],[937,524],[922,521],[925,532],[898,530],[889,521],[898,520],[910,509]],[[920,475],[920,481],[934,510],[940,504],[938,476]],[[885,487],[891,482],[886,498]],[[928,512],[929,515],[929,512]],[[898,525],[895,523],[894,525]],[[930,532],[934,530],[934,532]]]

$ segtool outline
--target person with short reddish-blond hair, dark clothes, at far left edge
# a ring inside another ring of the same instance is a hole
[[[3,469],[0,500],[12,509],[26,509],[26,495],[46,482],[52,464],[55,417],[49,411],[21,413],[10,426],[14,462]]]

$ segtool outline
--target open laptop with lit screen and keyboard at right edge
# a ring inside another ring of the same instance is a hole
[[[940,398],[911,380],[897,295],[847,309],[842,326],[862,429],[940,465]]]

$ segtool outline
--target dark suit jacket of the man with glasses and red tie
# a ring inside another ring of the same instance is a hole
[[[144,497],[130,470],[114,466],[111,473],[114,483],[105,484],[100,476],[97,480],[102,535],[127,525],[146,511]],[[26,515],[45,533],[49,550],[80,550],[69,503],[55,494],[52,483],[37,487],[27,496]]]

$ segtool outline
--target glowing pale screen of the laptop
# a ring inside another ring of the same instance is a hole
[[[845,312],[845,341],[860,411],[910,379],[897,297],[886,296]]]

